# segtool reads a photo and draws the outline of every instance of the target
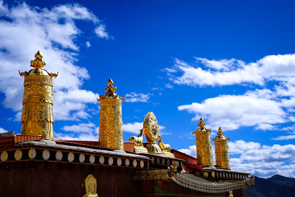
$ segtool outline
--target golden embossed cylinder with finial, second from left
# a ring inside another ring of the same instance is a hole
[[[99,145],[111,149],[124,150],[123,144],[123,121],[122,121],[122,100],[113,87],[111,78],[105,88],[106,94],[99,95],[100,117],[99,117]]]

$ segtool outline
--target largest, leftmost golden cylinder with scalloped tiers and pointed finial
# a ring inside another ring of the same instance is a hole
[[[53,140],[53,84],[52,77],[57,74],[42,69],[46,65],[42,54],[37,51],[31,61],[29,72],[20,72],[24,76],[24,97],[22,100],[22,135],[42,135],[43,139]]]

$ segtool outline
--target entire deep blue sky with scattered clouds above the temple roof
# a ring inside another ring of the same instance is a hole
[[[55,139],[98,140],[111,77],[124,141],[153,111],[164,143],[196,156],[202,117],[230,137],[232,170],[295,178],[295,1],[0,1],[0,28],[0,132],[21,132],[18,70],[40,50],[59,72]]]

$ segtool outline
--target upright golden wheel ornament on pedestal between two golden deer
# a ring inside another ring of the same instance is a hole
[[[145,146],[148,149],[148,153],[163,154],[162,150],[156,143],[159,135],[159,125],[157,118],[155,117],[153,112],[148,112],[147,115],[145,115],[145,119],[143,121],[143,128],[145,138],[148,140],[148,143]]]

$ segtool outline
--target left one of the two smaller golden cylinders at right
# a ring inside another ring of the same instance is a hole
[[[205,127],[203,118],[200,118],[198,123],[199,128],[191,132],[196,135],[196,151],[197,151],[197,163],[199,165],[214,166],[212,145],[210,140],[211,129]]]

